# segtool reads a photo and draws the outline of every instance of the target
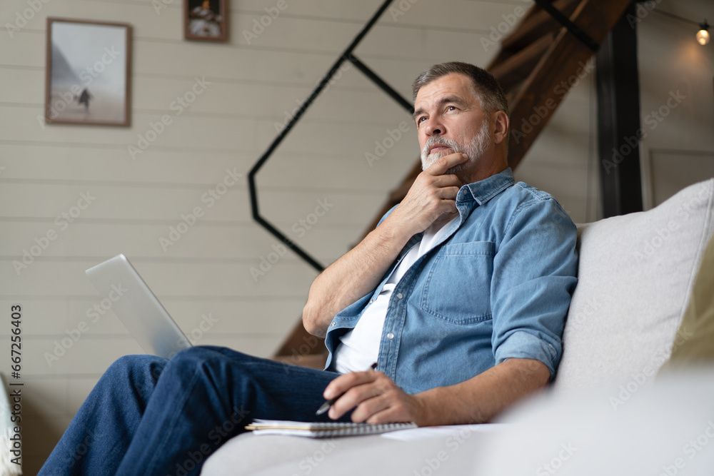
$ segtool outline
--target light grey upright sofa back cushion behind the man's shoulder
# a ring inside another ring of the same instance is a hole
[[[555,391],[609,383],[626,396],[654,380],[714,230],[713,190],[714,180],[695,183],[650,211],[578,227],[578,286]]]

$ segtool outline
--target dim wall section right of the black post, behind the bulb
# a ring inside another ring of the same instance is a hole
[[[663,0],[658,9],[693,21],[714,18],[710,0]],[[695,25],[646,9],[640,16],[640,117],[647,133],[640,143],[640,165],[646,210],[685,186],[714,177],[714,42],[700,46]]]

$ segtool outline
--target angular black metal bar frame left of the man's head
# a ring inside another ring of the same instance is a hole
[[[315,258],[313,258],[311,255],[309,255],[303,248],[298,246],[293,240],[285,236],[278,228],[273,226],[272,223],[267,221],[263,216],[261,216],[260,211],[258,210],[258,189],[256,188],[256,175],[258,171],[261,169],[261,167],[268,161],[268,158],[270,158],[271,154],[273,151],[275,151],[276,148],[280,145],[280,143],[283,141],[283,139],[288,135],[288,133],[291,131],[293,126],[300,120],[300,118],[303,116],[303,113],[307,110],[308,107],[315,101],[317,96],[321,93],[323,88],[325,88],[326,84],[332,77],[336,74],[340,66],[345,61],[350,61],[352,64],[354,64],[357,69],[362,71],[362,73],[367,76],[368,79],[370,79],[373,83],[376,84],[379,88],[381,88],[383,91],[385,91],[391,98],[393,98],[397,103],[399,103],[400,106],[405,108],[408,113],[411,115],[413,113],[413,107],[409,101],[407,101],[405,98],[403,98],[397,91],[395,91],[391,86],[389,86],[385,81],[383,81],[377,74],[374,73],[371,69],[369,69],[365,64],[363,64],[362,61],[360,61],[352,52],[358,44],[362,41],[362,39],[368,34],[368,32],[372,29],[372,26],[376,24],[377,20],[379,17],[386,11],[388,8],[389,4],[392,3],[392,0],[386,0],[382,4],[382,6],[379,7],[379,9],[375,12],[375,14],[372,16],[372,18],[367,22],[367,24],[363,27],[363,29],[357,34],[355,39],[353,39],[352,43],[347,47],[347,49],[341,54],[341,56],[335,61],[335,64],[331,67],[331,69],[327,72],[327,74],[323,77],[323,79],[318,83],[316,88],[312,91],[310,96],[308,96],[307,100],[302,103],[300,108],[298,108],[298,111],[293,115],[291,120],[286,124],[286,126],[283,128],[280,133],[278,133],[278,136],[276,136],[275,139],[273,139],[273,142],[271,143],[270,146],[268,146],[268,149],[263,153],[261,158],[258,159],[258,161],[253,165],[253,168],[251,168],[250,173],[248,173],[248,189],[250,190],[251,193],[251,211],[253,214],[253,219],[258,222],[263,228],[265,228],[267,231],[269,231],[273,236],[278,238],[278,240],[281,240],[281,242],[288,246],[291,250],[293,250],[298,256],[303,258],[303,260],[306,260],[313,268],[315,268],[318,271],[322,271],[325,269],[323,265],[321,265]]]

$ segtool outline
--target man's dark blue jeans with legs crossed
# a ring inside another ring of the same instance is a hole
[[[328,421],[315,412],[337,375],[209,346],[171,360],[127,355],[102,375],[39,475],[198,475],[253,418]]]

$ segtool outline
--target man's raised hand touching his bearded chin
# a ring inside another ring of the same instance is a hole
[[[465,153],[452,153],[439,158],[416,177],[406,197],[387,220],[412,236],[426,230],[439,218],[455,217],[458,214],[456,194],[463,183],[456,175],[445,173],[467,160]]]

